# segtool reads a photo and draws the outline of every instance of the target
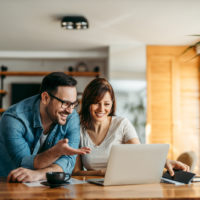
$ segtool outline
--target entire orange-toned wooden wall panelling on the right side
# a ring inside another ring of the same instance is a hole
[[[194,151],[199,172],[199,58],[185,48],[147,47],[147,141],[169,143],[171,159]]]

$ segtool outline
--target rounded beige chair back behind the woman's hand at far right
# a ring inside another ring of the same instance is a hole
[[[190,167],[190,171],[192,172],[197,162],[197,156],[195,152],[187,151],[180,154],[180,156],[177,158],[177,161],[181,161],[184,164],[188,165]]]

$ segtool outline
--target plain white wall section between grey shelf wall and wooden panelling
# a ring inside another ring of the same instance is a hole
[[[145,45],[112,45],[108,57],[109,79],[146,79]]]

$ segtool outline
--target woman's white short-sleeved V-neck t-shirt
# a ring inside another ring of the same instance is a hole
[[[87,170],[99,170],[107,167],[110,149],[113,144],[123,144],[138,138],[130,121],[123,117],[113,116],[107,135],[100,145],[95,145],[87,131],[81,128],[81,147],[90,147],[91,153],[82,155],[83,167]]]

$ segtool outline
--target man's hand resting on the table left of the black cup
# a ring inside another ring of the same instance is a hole
[[[8,182],[32,182],[44,179],[44,174],[38,170],[30,170],[23,167],[12,170],[8,177]]]

